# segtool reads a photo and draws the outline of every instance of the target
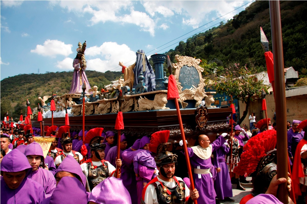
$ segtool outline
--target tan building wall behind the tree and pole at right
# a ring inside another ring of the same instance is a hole
[[[271,123],[276,122],[274,117],[275,112],[275,100],[274,95],[266,95],[266,112],[268,118],[271,119]],[[262,99],[261,98],[254,98],[253,101],[250,102],[250,107],[248,110],[248,114],[241,123],[245,123],[249,127],[249,120],[248,117],[251,115],[251,112],[255,112],[256,122],[265,118],[264,111],[261,110]],[[240,110],[240,117],[243,116],[243,111],[245,110],[245,103],[239,101],[239,110]],[[293,120],[306,120],[307,119],[307,95],[299,95],[286,98],[286,111],[287,111],[287,121],[292,123]]]

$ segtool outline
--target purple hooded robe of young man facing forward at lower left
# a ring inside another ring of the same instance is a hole
[[[28,145],[25,149],[25,156],[28,155],[38,155],[41,156],[42,162],[44,163],[44,154],[41,148],[41,145],[33,142]],[[29,179],[36,181],[37,183],[41,184],[44,187],[46,197],[50,197],[52,192],[56,187],[56,179],[54,175],[46,169],[38,168],[36,171],[30,172],[27,176]]]

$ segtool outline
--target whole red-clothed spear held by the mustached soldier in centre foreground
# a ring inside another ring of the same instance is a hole
[[[169,59],[169,57],[168,57]],[[172,66],[171,66],[172,67]],[[171,71],[172,73],[172,71]],[[179,121],[179,126],[180,126],[180,132],[181,132],[181,138],[183,141],[183,149],[185,151],[185,161],[187,162],[187,167],[188,167],[188,175],[190,178],[190,183],[191,183],[191,191],[195,189],[194,187],[194,181],[193,181],[193,176],[192,176],[192,169],[190,165],[190,159],[188,155],[188,147],[185,142],[185,132],[183,129],[183,124],[181,120],[181,113],[180,113],[180,108],[179,108],[179,103],[178,103],[178,98],[179,98],[179,92],[177,88],[177,83],[175,80],[175,77],[173,74],[169,75],[169,83],[168,83],[168,88],[167,88],[167,100],[175,100],[176,104],[176,110],[177,110],[177,116],[178,116],[178,121]],[[197,204],[197,200],[194,200],[194,203]]]

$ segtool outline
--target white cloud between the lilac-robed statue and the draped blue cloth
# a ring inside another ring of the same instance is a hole
[[[85,50],[87,56],[99,56],[101,58],[87,60],[87,69],[106,72],[107,70],[119,71],[118,63],[122,61],[126,66],[133,64],[136,58],[135,52],[125,45],[115,42],[105,42],[101,46],[93,46]],[[114,69],[116,68],[116,69]]]

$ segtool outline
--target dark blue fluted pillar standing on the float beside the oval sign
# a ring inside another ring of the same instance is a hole
[[[165,90],[164,85],[164,75],[163,75],[163,64],[166,59],[165,54],[153,54],[150,56],[153,64],[154,64],[154,70],[156,75],[156,90]]]

